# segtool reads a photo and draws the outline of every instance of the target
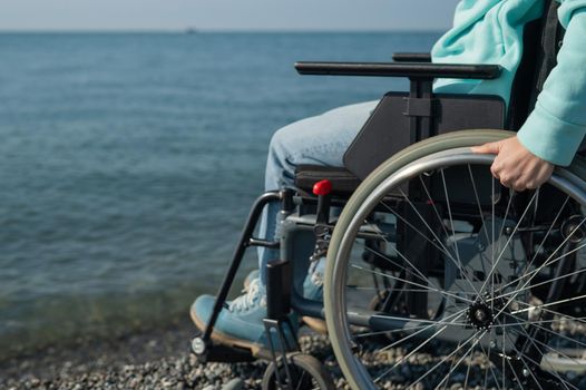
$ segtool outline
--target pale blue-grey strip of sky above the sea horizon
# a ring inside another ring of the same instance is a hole
[[[458,0],[1,0],[0,30],[446,30]]]

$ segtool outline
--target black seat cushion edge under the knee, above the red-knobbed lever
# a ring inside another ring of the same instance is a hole
[[[295,186],[310,194],[313,185],[323,179],[332,183],[332,194],[339,196],[351,195],[360,185],[360,179],[343,167],[299,165],[295,169]]]

